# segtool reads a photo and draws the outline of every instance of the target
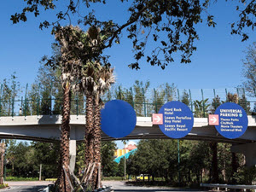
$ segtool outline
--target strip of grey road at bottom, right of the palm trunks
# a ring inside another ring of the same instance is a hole
[[[141,186],[133,186],[133,185],[127,185],[125,182],[122,181],[103,181],[103,185],[106,186],[112,186],[114,192],[166,192],[166,191],[172,191],[172,192],[188,192],[188,191],[194,191],[194,192],[206,192],[204,190],[200,189],[183,189],[183,188],[170,188],[170,187],[141,187]]]

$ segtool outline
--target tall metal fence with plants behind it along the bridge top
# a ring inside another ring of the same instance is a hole
[[[59,90],[57,89],[59,86]],[[0,91],[0,116],[28,116],[28,115],[53,115],[61,114],[62,90],[60,85],[51,84],[49,90],[40,88],[32,91],[26,84],[24,96],[9,96],[1,86]],[[120,86],[113,87],[105,96],[104,102],[113,99],[121,99],[129,102],[135,109],[137,116],[151,116],[158,113],[160,108],[170,101],[184,102],[195,114],[195,117],[207,117],[208,113],[214,113],[219,104],[229,102],[229,96],[236,95],[236,103],[245,109],[247,114],[255,113],[256,91],[247,92],[243,88],[231,89],[165,89],[160,86],[155,89],[135,91],[134,88],[124,89]],[[17,99],[20,97],[19,99]],[[71,114],[85,114],[86,98],[80,93],[73,93],[71,96]]]

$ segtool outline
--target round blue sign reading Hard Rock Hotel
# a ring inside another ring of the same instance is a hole
[[[183,102],[167,102],[159,113],[163,114],[163,125],[159,127],[167,137],[185,137],[192,130],[193,113]]]

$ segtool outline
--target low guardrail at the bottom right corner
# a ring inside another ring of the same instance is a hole
[[[225,189],[225,191],[227,191],[228,189],[243,189],[244,191],[246,191],[246,189],[254,189],[254,191],[256,192],[256,185],[200,183],[200,186],[207,188],[217,188],[217,190],[222,188]]]

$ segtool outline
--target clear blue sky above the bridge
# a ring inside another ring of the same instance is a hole
[[[128,16],[127,5],[128,3],[112,0],[108,1],[106,6],[96,4],[92,9],[95,9],[96,15],[102,18],[112,18],[122,22]],[[54,37],[50,34],[50,30],[41,31],[38,25],[40,20],[52,20],[55,13],[43,12],[38,18],[28,15],[26,23],[13,25],[9,20],[10,15],[19,12],[23,6],[21,0],[1,3],[0,81],[16,72],[20,83],[24,85],[34,82],[41,58],[44,55],[51,55],[51,43],[54,42]],[[131,87],[138,79],[150,80],[152,88],[164,83],[174,83],[179,89],[218,89],[241,85],[244,81],[242,60],[245,58],[247,47],[255,41],[255,32],[247,31],[249,39],[246,42],[241,42],[241,37],[237,35],[230,35],[230,23],[239,19],[234,1],[212,3],[208,12],[215,16],[217,26],[208,27],[205,22],[196,26],[200,40],[195,42],[197,50],[189,64],[180,63],[180,57],[175,55],[175,62],[169,64],[165,70],[151,67],[146,62],[140,63],[140,70],[131,70],[127,66],[134,61],[132,46],[124,33],[120,44],[114,45],[105,52],[111,55],[109,61],[115,67],[118,84]],[[81,10],[81,13],[86,14],[86,11]],[[72,21],[74,20],[75,18]],[[154,44],[149,43],[148,51],[153,47]]]

